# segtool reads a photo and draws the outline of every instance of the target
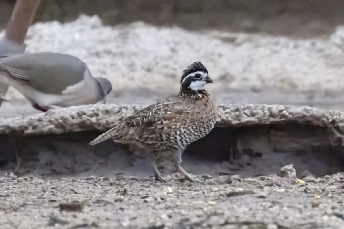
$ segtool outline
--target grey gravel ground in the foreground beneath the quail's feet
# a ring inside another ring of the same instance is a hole
[[[0,178],[1,228],[344,228],[344,174]]]

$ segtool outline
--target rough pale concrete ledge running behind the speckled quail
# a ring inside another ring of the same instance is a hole
[[[138,110],[138,105],[84,105],[50,110],[30,116],[3,117],[0,134],[31,136],[75,133],[85,130],[106,131]],[[284,125],[286,122],[307,122],[343,133],[344,114],[321,111],[314,107],[282,105],[218,105],[217,127],[239,127],[260,124]]]

